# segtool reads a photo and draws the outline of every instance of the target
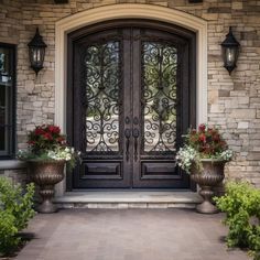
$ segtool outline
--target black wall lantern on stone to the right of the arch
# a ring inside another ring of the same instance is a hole
[[[232,69],[237,66],[239,42],[232,35],[232,29],[229,28],[229,33],[226,35],[225,41],[221,43],[224,67],[231,74]]]

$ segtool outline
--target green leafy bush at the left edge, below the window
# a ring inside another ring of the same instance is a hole
[[[34,216],[33,196],[34,184],[26,185],[23,193],[21,185],[0,177],[0,254],[10,254],[21,242],[19,231]]]

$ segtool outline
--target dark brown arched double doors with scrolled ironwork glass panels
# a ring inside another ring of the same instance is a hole
[[[126,21],[72,34],[68,134],[83,153],[73,188],[189,187],[175,153],[195,121],[191,39]]]

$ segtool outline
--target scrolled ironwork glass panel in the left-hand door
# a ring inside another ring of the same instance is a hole
[[[89,45],[84,56],[86,151],[119,151],[120,42]]]

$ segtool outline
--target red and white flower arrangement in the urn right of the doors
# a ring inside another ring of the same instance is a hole
[[[187,134],[184,137],[184,147],[177,152],[176,160],[178,166],[187,173],[191,172],[193,163],[195,163],[197,169],[201,169],[202,159],[227,162],[232,158],[232,151],[228,149],[217,128],[209,128],[202,123],[197,130],[188,129]]]

